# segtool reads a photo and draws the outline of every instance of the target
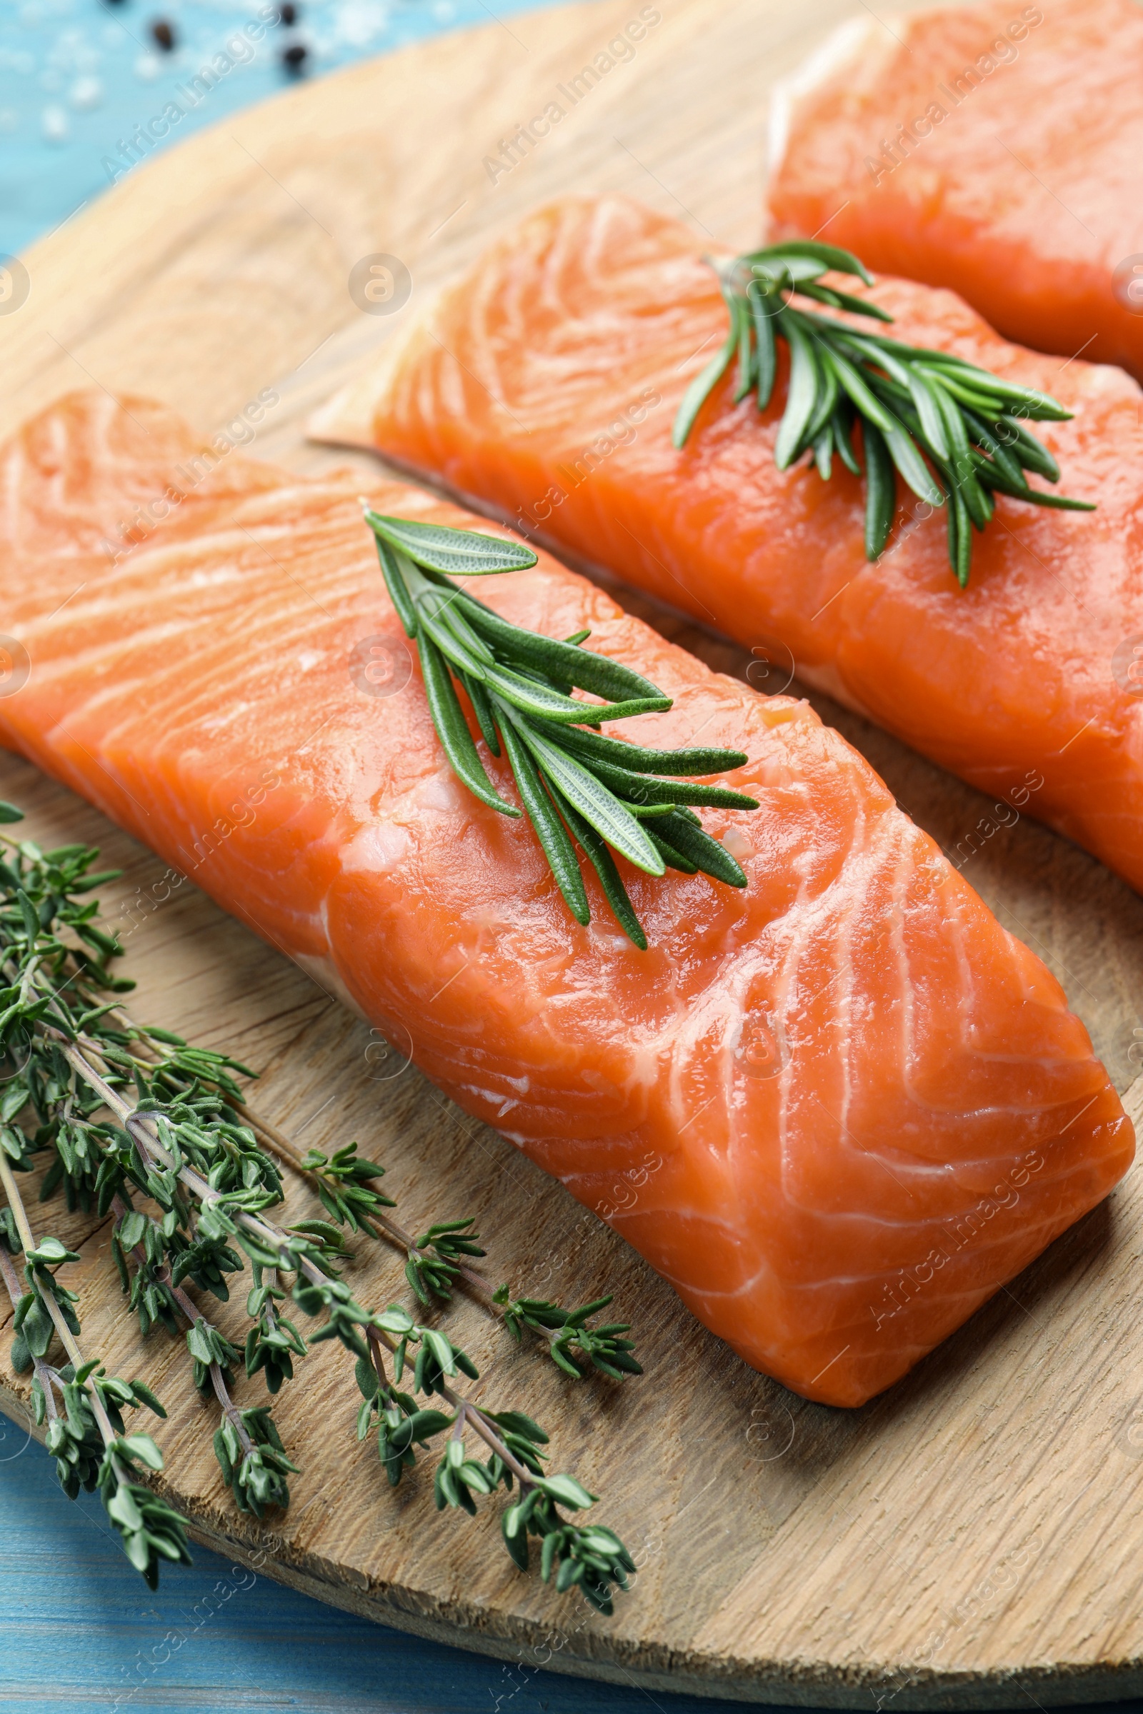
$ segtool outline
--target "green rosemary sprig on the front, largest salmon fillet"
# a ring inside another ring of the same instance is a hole
[[[603,737],[598,727],[605,720],[661,711],[672,706],[670,698],[631,667],[581,648],[588,631],[566,641],[545,638],[500,619],[449,576],[521,571],[536,564],[531,548],[471,530],[386,518],[368,506],[365,523],[377,540],[389,598],[420,651],[428,711],[452,771],[482,804],[504,816],[521,814],[500,797],[480,759],[456,680],[488,751],[507,754],[523,812],[576,922],[591,919],[577,848],[643,951],[646,934],[612,850],[646,874],[679,869],[727,886],[747,884],[692,807],[757,809],[742,792],[696,783],[699,775],[740,768],[747,756],[656,751]],[[574,698],[576,689],[600,701]]]

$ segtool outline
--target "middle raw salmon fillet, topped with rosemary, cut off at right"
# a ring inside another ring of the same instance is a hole
[[[672,447],[682,393],[727,331],[701,249],[624,197],[540,209],[319,413],[315,432],[483,495],[526,531],[797,670],[1143,890],[1134,382],[1006,345],[949,291],[881,281],[872,295],[896,317],[895,338],[956,351],[1074,411],[1037,432],[1062,466],[1061,490],[1098,511],[997,495],[960,590],[943,509],[929,514],[900,485],[871,566],[859,478],[836,461],[829,482],[775,466],[785,345],[761,418],[752,398],[732,405],[727,375],[685,447]]]

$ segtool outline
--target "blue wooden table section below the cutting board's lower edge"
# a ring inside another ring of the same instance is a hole
[[[577,1599],[571,1596],[569,1599]],[[0,1417],[0,1709],[89,1714],[730,1714],[404,1637],[194,1549],[151,1594],[99,1498]],[[778,1711],[780,1714],[780,1711]]]

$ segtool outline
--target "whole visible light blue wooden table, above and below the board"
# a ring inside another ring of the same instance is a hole
[[[283,50],[312,74],[535,0],[302,0],[298,24],[262,33],[170,141],[288,82]],[[0,254],[50,231],[108,183],[132,129],[226,51],[262,0],[0,0]],[[151,26],[166,19],[177,48]],[[248,41],[248,36],[247,36]],[[1028,1704],[1032,1705],[1032,1702]],[[348,1618],[195,1551],[151,1596],[103,1508],[70,1505],[46,1455],[0,1417],[0,1709],[87,1714],[211,1707],[394,1714],[728,1714],[733,1704],[649,1697],[511,1669]],[[1121,1704],[1143,1711],[1143,1704]]]

